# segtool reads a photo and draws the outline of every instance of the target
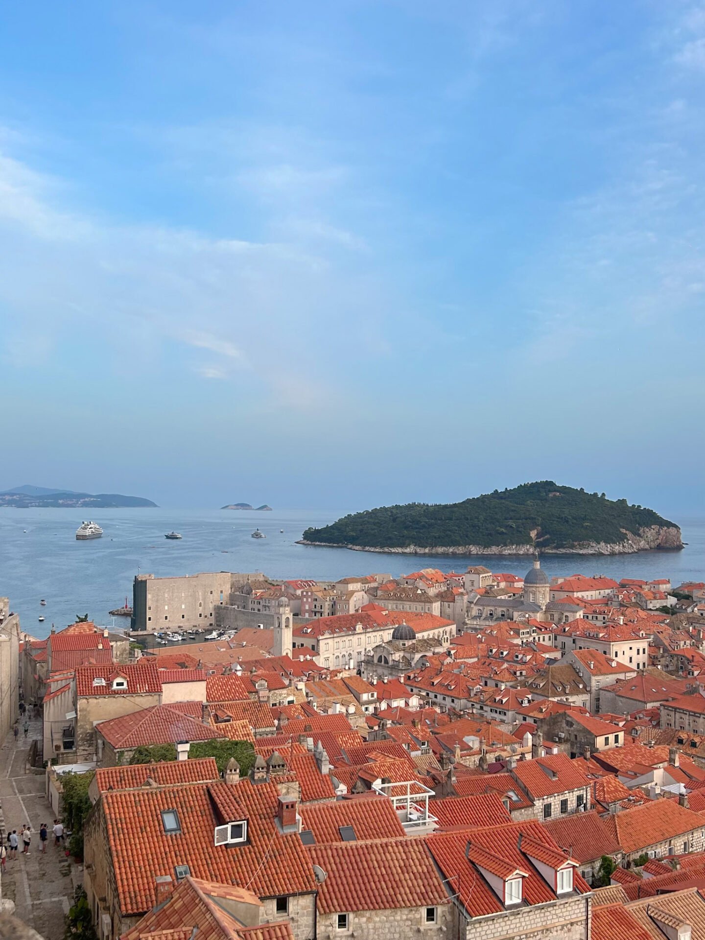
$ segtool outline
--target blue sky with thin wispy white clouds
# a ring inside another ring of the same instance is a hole
[[[705,512],[705,2],[39,0],[0,489]]]

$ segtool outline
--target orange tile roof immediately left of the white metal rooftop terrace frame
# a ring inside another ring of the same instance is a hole
[[[315,844],[342,842],[341,826],[352,826],[357,841],[404,838],[403,826],[386,796],[351,797],[334,803],[299,807],[302,828],[313,833]]]

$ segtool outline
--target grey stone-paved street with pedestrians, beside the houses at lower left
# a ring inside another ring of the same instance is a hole
[[[41,738],[41,719],[33,718],[27,740],[24,740],[22,720],[20,736],[15,742],[12,732],[0,748],[0,807],[7,830],[24,825],[32,827],[32,844],[28,856],[22,854],[22,842],[17,859],[8,858],[2,873],[2,896],[15,902],[15,914],[33,927],[45,940],[61,940],[64,935],[64,915],[73,900],[73,885],[80,870],[64,854],[55,849],[51,838],[54,823],[52,810],[44,796],[45,775],[25,774],[25,764],[32,739]],[[50,840],[46,854],[39,852],[39,824],[49,823]],[[72,873],[72,869],[75,871]],[[78,877],[80,883],[80,877]]]

